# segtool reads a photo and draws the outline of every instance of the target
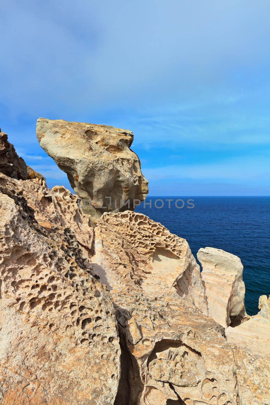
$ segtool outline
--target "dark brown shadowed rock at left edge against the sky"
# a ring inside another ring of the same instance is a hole
[[[27,177],[26,162],[19,158],[4,132],[0,132],[0,173],[19,180]]]

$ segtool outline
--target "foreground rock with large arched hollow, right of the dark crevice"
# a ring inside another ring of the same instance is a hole
[[[176,292],[156,300],[111,294],[122,353],[115,405],[238,405],[234,356],[220,325]],[[128,338],[130,320],[142,335],[137,343]]]

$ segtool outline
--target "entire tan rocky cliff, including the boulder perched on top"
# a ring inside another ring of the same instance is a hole
[[[132,132],[38,119],[77,195],[1,136],[1,404],[270,403],[270,301],[247,315],[240,259],[205,247],[200,272],[134,207],[78,206],[146,197]]]

